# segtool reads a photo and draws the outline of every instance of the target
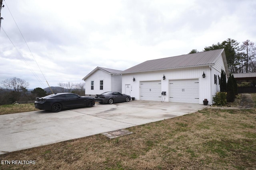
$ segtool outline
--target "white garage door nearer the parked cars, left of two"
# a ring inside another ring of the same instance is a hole
[[[140,82],[140,100],[161,101],[161,81]]]

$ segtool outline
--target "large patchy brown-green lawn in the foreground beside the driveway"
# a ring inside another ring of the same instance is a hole
[[[256,95],[252,94],[256,101]],[[6,170],[256,169],[256,109],[210,109],[128,128],[130,135],[98,134],[0,155]]]

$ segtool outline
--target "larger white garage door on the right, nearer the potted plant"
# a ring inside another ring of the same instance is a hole
[[[198,79],[170,80],[169,101],[182,103],[199,103]]]

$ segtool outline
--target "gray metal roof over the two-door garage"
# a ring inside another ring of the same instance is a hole
[[[174,57],[167,57],[163,59],[155,59],[145,61],[136,66],[128,68],[121,72],[121,74],[135,73],[135,72],[146,72],[155,70],[166,70],[174,68],[186,68],[192,66],[205,66],[214,65],[217,58],[224,52],[224,49],[205,51],[194,54],[179,55]],[[226,56],[224,53],[224,64],[226,64]],[[227,70],[227,65],[225,65]]]

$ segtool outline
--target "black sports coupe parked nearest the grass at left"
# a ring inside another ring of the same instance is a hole
[[[42,98],[36,98],[34,104],[36,109],[58,112],[62,109],[74,107],[92,107],[95,104],[95,99],[79,96],[74,93],[56,93]]]

